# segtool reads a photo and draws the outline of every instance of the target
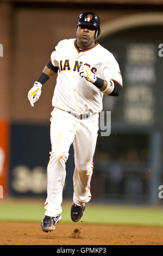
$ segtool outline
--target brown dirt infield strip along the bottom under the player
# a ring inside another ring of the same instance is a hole
[[[57,223],[43,233],[40,223],[0,222],[0,245],[163,245],[163,227]]]

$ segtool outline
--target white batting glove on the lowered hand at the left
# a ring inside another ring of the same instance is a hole
[[[42,84],[39,82],[34,82],[34,86],[28,92],[28,100],[30,101],[30,105],[33,107],[34,103],[39,100],[41,95],[41,87]]]

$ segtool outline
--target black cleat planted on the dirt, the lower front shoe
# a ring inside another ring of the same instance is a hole
[[[61,215],[57,217],[49,217],[45,216],[45,218],[41,222],[42,231],[48,232],[53,231],[55,229],[55,224],[61,220]]]

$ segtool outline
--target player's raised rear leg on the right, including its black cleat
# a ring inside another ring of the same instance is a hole
[[[89,202],[91,199],[90,181],[93,173],[92,160],[97,141],[98,117],[96,116],[89,120],[83,120],[82,123],[84,125],[83,129],[77,131],[73,141],[74,160],[76,165],[73,175],[73,203],[77,206],[85,205],[85,203]],[[77,210],[80,211],[80,209]],[[71,210],[71,213],[72,211],[73,209]]]

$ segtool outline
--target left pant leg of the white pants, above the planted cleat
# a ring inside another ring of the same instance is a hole
[[[61,214],[62,190],[65,184],[65,163],[74,139],[74,126],[63,111],[55,111],[51,118],[52,151],[47,167],[47,199],[45,215]]]

